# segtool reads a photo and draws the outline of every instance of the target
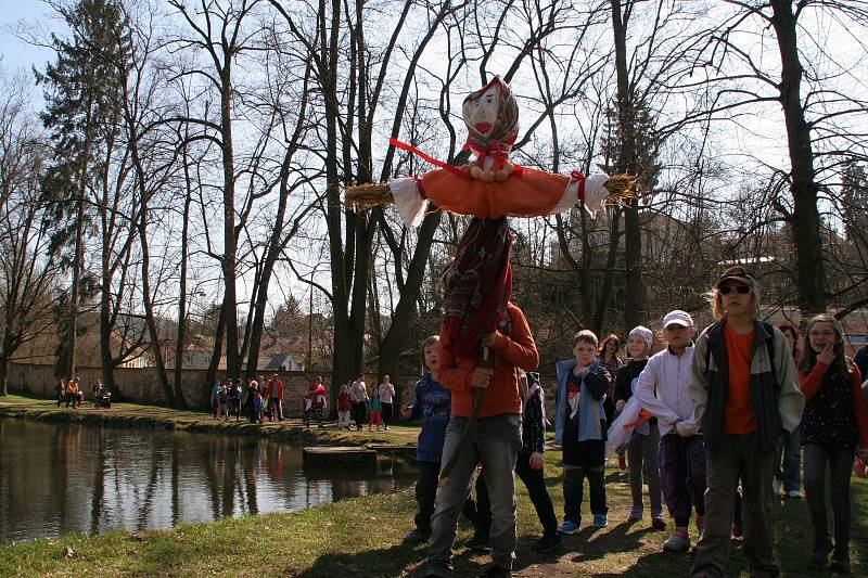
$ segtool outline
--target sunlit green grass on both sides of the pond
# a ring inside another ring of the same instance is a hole
[[[46,408],[50,403],[15,396],[0,398],[0,414],[17,408],[31,412],[18,416],[34,418],[41,415],[42,411],[52,411]],[[174,412],[173,418],[173,410],[161,408],[119,404],[117,411],[168,412],[168,419],[181,424],[186,420],[213,422],[208,415],[195,412]],[[224,426],[216,425],[220,428]],[[230,426],[225,432],[243,431],[234,431]],[[368,438],[394,442],[414,438],[416,432],[418,429],[400,428],[394,433],[369,435],[368,432],[339,434],[332,429],[322,435],[339,442],[343,442],[344,437],[357,442]],[[314,429],[314,433],[319,432]],[[563,510],[560,452],[546,454],[546,473],[549,491],[560,516]],[[559,554],[540,556],[531,551],[531,544],[540,532],[539,523],[524,486],[518,483],[519,545],[514,574],[654,578],[689,575],[689,555],[664,553],[661,550],[668,531],[651,530],[648,518],[637,524],[626,522],[630,504],[626,475],[609,468],[607,492],[609,527],[583,529],[565,540],[565,548]],[[868,563],[868,481],[854,477],[852,496],[851,553],[854,575],[865,576]],[[302,512],[181,525],[170,530],[141,534],[112,531],[89,538],[65,535],[54,540],[0,545],[0,576],[421,576],[425,548],[401,543],[404,534],[412,528],[414,512],[416,501],[410,489],[324,504]],[[828,569],[807,564],[812,529],[804,500],[781,499],[776,515],[776,551],[782,575],[800,578],[829,576]],[[587,502],[584,504],[583,519],[591,519]],[[691,531],[695,540],[695,530],[691,528]],[[471,529],[462,523],[459,543],[470,535]],[[746,576],[741,542],[733,543],[736,548],[727,575]],[[66,545],[75,551],[75,556],[68,560],[63,556]],[[475,576],[487,563],[486,555],[456,549],[458,576]]]

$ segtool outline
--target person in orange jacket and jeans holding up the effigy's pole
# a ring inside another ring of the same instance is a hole
[[[458,516],[467,501],[470,481],[482,463],[492,502],[492,565],[484,576],[509,577],[515,553],[515,460],[522,446],[522,399],[515,369],[533,371],[539,364],[531,327],[522,310],[505,304],[502,321],[494,332],[483,333],[480,346],[493,354],[493,368],[482,359],[458,354],[444,323],[441,326],[438,370],[441,383],[452,395],[451,418],[446,428],[443,462],[459,451],[459,440],[473,412],[474,396],[487,394],[472,436],[459,451],[446,485],[437,490],[431,521],[431,548],[426,576],[452,575],[452,543]]]

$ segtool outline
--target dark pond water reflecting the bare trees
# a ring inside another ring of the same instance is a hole
[[[261,438],[0,420],[0,542],[290,512],[411,486],[414,467],[302,468]]]

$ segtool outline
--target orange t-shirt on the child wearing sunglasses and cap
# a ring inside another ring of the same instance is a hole
[[[729,324],[724,327],[726,354],[729,360],[729,388],[724,408],[724,432],[750,434],[757,428],[751,402],[751,351],[754,332],[736,333]]]

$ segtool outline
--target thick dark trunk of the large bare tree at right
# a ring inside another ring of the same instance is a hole
[[[787,126],[793,211],[790,219],[795,246],[799,309],[802,318],[826,311],[826,275],[817,210],[817,183],[810,127],[801,101],[802,63],[799,60],[797,22],[789,0],[773,0],[771,25],[781,60],[780,103]]]

